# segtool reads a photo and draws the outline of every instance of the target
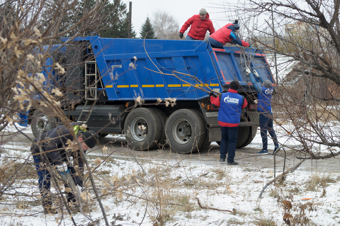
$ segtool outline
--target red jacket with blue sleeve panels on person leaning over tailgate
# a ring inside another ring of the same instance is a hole
[[[223,45],[226,43],[238,44],[240,46],[248,47],[250,44],[240,39],[235,32],[234,25],[228,23],[224,27],[218,29],[210,38],[214,38],[216,41],[221,42]]]

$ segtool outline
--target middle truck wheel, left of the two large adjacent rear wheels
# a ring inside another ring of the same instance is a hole
[[[145,107],[132,110],[126,116],[124,124],[128,131],[126,139],[129,145],[139,151],[153,149],[162,134],[160,124],[155,110]]]

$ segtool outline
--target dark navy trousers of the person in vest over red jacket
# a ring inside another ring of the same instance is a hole
[[[234,162],[238,126],[236,127],[220,126],[220,128],[221,128],[221,145],[220,145],[221,158],[225,159],[226,154],[228,154],[227,158],[228,163]]]

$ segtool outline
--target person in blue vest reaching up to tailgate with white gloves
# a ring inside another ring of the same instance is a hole
[[[268,154],[268,136],[267,131],[271,138],[274,141],[274,151],[277,152],[279,150],[278,140],[274,131],[273,126],[273,112],[272,112],[272,93],[273,87],[272,82],[269,80],[264,80],[259,76],[257,71],[254,69],[253,73],[251,73],[249,68],[246,68],[246,72],[249,75],[250,81],[254,85],[257,90],[257,110],[260,112],[260,134],[262,137],[262,150],[257,154]],[[261,83],[257,83],[255,81],[254,75],[259,79]]]

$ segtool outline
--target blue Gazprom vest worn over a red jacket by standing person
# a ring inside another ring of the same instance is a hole
[[[240,123],[243,98],[238,93],[222,93],[217,120],[225,123]]]

